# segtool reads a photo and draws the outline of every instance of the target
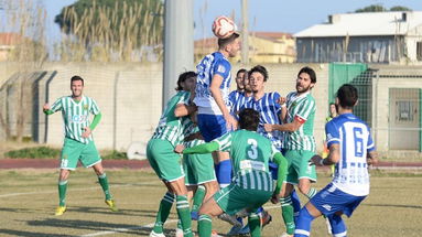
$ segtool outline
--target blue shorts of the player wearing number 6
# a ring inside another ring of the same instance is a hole
[[[321,190],[310,202],[325,216],[343,212],[350,217],[351,213],[366,196],[355,196],[338,190],[333,183]]]

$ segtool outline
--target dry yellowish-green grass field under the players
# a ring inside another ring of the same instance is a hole
[[[71,174],[67,195],[68,211],[55,217],[57,205],[57,171],[0,170],[0,236],[148,236],[155,218],[164,188],[150,171],[108,171],[111,192],[120,208],[111,213],[104,203],[102,192],[93,171],[79,169]],[[317,187],[329,177],[320,175]],[[346,219],[348,236],[421,236],[422,175],[381,175],[372,173],[371,194]],[[174,236],[175,207],[166,227]],[[267,204],[273,222],[262,236],[284,231],[280,207]],[[227,233],[220,220],[214,229]],[[196,223],[193,224],[196,230]],[[313,222],[312,236],[328,236],[323,218]]]

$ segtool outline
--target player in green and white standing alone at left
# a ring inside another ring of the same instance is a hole
[[[101,158],[95,147],[93,130],[101,119],[101,112],[97,103],[83,95],[84,79],[80,76],[71,78],[71,96],[57,99],[52,107],[48,104],[43,106],[45,115],[53,115],[61,111],[65,126],[65,139],[61,154],[61,171],[58,175],[58,207],[55,215],[63,215],[66,209],[66,191],[69,171],[76,170],[77,162],[85,168],[93,168],[98,175],[99,184],[106,195],[106,204],[112,212],[117,212],[115,200],[112,198],[108,179],[102,169]],[[94,115],[94,120],[89,122],[89,114]]]

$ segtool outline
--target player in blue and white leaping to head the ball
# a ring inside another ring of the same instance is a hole
[[[198,128],[206,142],[235,130],[237,120],[228,108],[228,94],[231,82],[231,65],[228,57],[239,51],[239,34],[218,39],[218,51],[206,55],[196,66],[197,78],[194,103],[198,107]],[[220,187],[230,184],[231,163],[227,152],[213,153],[217,181]]]

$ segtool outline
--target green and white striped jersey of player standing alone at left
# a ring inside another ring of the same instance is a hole
[[[53,112],[62,111],[65,126],[65,137],[88,143],[93,140],[93,134],[83,138],[84,128],[89,127],[89,114],[98,115],[100,112],[97,103],[89,97],[83,96],[80,101],[75,101],[72,96],[64,96],[57,99],[51,107]]]

